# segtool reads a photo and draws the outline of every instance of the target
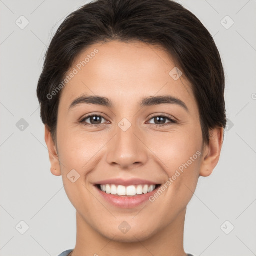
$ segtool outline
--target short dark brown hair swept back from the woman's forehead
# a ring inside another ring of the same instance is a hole
[[[37,85],[41,119],[53,139],[61,91],[49,95],[63,80],[74,59],[94,43],[110,40],[161,45],[192,84],[204,143],[209,130],[226,126],[221,58],[214,40],[199,19],[170,0],[97,0],[65,18],[46,52]]]

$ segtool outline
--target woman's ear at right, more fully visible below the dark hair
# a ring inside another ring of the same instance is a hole
[[[209,144],[204,148],[200,165],[200,176],[209,176],[216,167],[223,144],[223,133],[223,127],[216,127],[210,130]]]

